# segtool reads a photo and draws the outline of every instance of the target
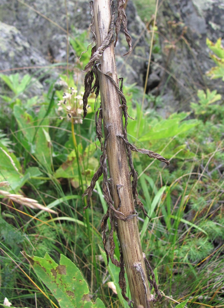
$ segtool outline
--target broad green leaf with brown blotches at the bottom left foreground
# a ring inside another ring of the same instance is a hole
[[[88,284],[70,259],[61,254],[60,264],[57,264],[48,253],[44,258],[23,253],[61,308],[105,308],[99,298],[95,303],[91,301]]]

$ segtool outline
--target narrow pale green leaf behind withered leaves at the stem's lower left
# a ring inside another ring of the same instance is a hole
[[[106,256],[106,253],[105,251],[99,246],[100,248],[100,253],[101,253],[101,256],[103,257],[104,259],[104,263],[107,264],[107,256]],[[124,300],[122,294],[121,294],[121,289],[120,289],[120,286],[119,286],[119,273],[120,273],[120,267],[116,267],[116,265],[114,265],[112,262],[109,262],[108,265],[106,265],[107,269],[108,269],[108,272],[111,276],[111,281],[114,283],[115,287],[116,287],[116,291],[117,291],[117,296],[120,300],[120,303],[122,305],[123,308],[127,308],[128,307],[128,303]],[[127,277],[126,277],[126,284],[128,286],[128,280],[127,280]],[[128,290],[128,288],[127,288]]]

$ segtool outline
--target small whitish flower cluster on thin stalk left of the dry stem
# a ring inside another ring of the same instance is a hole
[[[69,121],[71,121],[71,118],[73,118],[74,124],[82,124],[82,96],[77,95],[77,90],[72,87],[69,89],[69,91],[70,93],[64,93],[62,96],[63,99],[58,102],[57,111],[59,113],[65,113]],[[63,119],[62,116],[61,119]]]

